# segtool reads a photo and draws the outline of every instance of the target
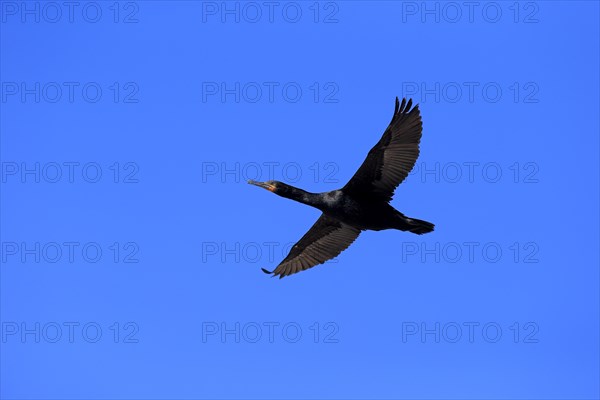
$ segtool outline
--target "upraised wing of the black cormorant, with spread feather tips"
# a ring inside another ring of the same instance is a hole
[[[369,151],[358,171],[342,191],[348,194],[390,201],[394,190],[408,176],[419,157],[423,124],[419,106],[412,99],[402,104],[396,97],[392,121]]]

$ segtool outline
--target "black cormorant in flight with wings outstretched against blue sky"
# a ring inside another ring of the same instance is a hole
[[[433,231],[432,223],[409,218],[389,204],[419,157],[423,124],[419,106],[411,107],[412,99],[400,104],[396,97],[383,136],[341,189],[310,193],[279,181],[248,181],[323,212],[273,271],[262,269],[265,273],[283,278],[322,264],[347,249],[361,231],[399,229],[417,235]]]

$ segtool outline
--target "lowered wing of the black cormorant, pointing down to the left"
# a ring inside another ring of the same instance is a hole
[[[356,240],[360,229],[321,214],[315,224],[296,243],[287,257],[270,272],[279,278],[323,264],[336,257]]]

